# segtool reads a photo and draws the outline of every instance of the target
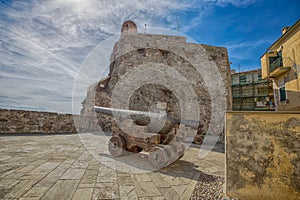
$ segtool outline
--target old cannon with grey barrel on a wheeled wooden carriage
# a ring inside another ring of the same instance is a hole
[[[166,111],[145,112],[94,106],[95,112],[113,116],[112,137],[108,150],[113,157],[128,152],[149,152],[150,164],[160,169],[180,159],[188,137],[185,125],[198,127],[198,121],[181,120]]]

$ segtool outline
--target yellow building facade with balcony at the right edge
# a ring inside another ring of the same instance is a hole
[[[262,78],[273,81],[276,111],[300,110],[300,20],[261,57]]]

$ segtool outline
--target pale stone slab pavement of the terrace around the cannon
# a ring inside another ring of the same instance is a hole
[[[151,172],[146,154],[114,162],[105,136],[97,136],[100,147],[89,151],[80,137],[0,136],[0,199],[189,199],[201,174],[224,177],[225,155],[217,151],[200,159],[199,149],[191,147],[179,161]],[[131,170],[124,170],[125,161]],[[146,170],[134,172],[141,163]]]

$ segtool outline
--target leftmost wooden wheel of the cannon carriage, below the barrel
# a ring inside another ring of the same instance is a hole
[[[121,136],[112,136],[108,143],[109,153],[113,157],[119,157],[125,154],[126,143]]]

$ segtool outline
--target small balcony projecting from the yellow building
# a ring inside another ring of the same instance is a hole
[[[291,69],[293,60],[290,58],[278,57],[276,60],[270,63],[270,78],[276,78]]]

